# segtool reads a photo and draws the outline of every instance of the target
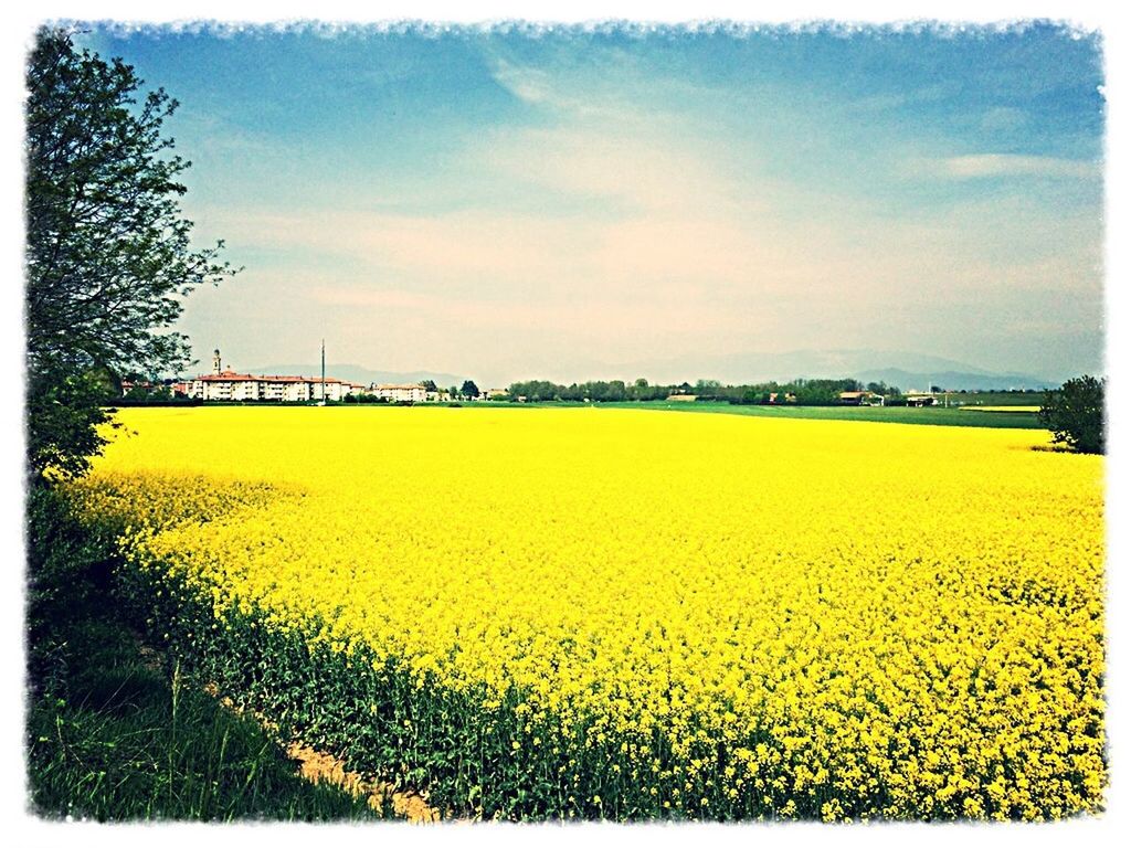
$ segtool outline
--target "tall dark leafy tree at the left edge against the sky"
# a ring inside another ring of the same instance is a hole
[[[77,51],[43,28],[28,58],[27,471],[81,474],[105,439],[101,374],[176,371],[187,338],[169,328],[197,286],[234,274],[214,248],[192,250],[163,121],[176,101],[120,59]]]

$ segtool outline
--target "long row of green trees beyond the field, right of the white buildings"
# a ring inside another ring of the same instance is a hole
[[[507,389],[511,400],[532,403],[562,400],[580,403],[615,403],[625,400],[664,400],[672,395],[693,395],[697,400],[729,404],[798,404],[804,406],[832,406],[840,403],[843,391],[872,391],[884,397],[886,403],[898,401],[901,392],[882,382],[863,384],[858,380],[805,380],[789,382],[744,383],[724,386],[718,380],[699,380],[691,383],[650,384],[645,379],[631,383],[623,380],[592,380],[562,386],[549,380],[527,380],[511,383]]]

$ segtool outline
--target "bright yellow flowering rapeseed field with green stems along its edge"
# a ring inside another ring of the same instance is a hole
[[[1103,460],[1034,450],[1045,431],[631,408],[118,417],[69,494],[120,539],[152,633],[446,815],[1102,807]]]

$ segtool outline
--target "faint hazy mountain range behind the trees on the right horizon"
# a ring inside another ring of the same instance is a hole
[[[698,379],[724,383],[785,382],[794,378],[853,378],[862,382],[883,381],[900,389],[1043,389],[1060,383],[1028,374],[994,372],[910,351],[791,351],[787,353],[740,353],[683,356],[658,362],[634,362],[615,369],[623,379],[645,377],[651,382],[671,383]]]

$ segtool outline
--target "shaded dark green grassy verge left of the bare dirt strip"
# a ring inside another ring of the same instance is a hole
[[[26,764],[45,819],[372,820],[311,784],[260,725],[147,654],[112,597],[112,563],[50,494],[29,501]]]

